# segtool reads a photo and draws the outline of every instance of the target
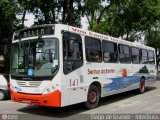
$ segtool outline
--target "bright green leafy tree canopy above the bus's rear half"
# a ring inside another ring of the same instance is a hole
[[[99,24],[99,32],[129,41],[142,39],[160,17],[158,0],[112,2]]]

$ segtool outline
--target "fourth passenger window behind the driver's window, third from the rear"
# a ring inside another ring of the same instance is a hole
[[[132,58],[132,63],[139,64],[140,54],[139,54],[139,49],[138,48],[136,48],[136,47],[131,48],[131,58]]]

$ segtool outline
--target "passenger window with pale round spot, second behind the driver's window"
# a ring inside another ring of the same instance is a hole
[[[102,50],[103,50],[103,60],[106,63],[115,63],[117,62],[118,54],[117,54],[117,44],[102,41]]]

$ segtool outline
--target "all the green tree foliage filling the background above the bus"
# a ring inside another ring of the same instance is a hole
[[[160,48],[159,0],[1,0],[0,41],[11,41],[13,31],[24,28],[32,13],[35,25],[62,23]],[[6,32],[7,31],[7,32]]]

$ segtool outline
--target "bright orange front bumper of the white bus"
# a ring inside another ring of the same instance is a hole
[[[11,100],[15,102],[34,104],[40,106],[52,106],[52,107],[61,107],[61,92],[56,90],[52,93],[45,95],[35,95],[35,94],[24,94],[11,91]]]

